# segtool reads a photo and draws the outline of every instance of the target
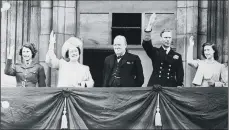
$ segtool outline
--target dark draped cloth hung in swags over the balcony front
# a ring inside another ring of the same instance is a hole
[[[2,129],[155,129],[152,88],[1,88]],[[227,129],[227,88],[162,88],[161,129]]]

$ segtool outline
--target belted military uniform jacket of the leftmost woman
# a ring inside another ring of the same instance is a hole
[[[5,67],[5,74],[16,76],[17,87],[46,87],[44,67],[39,63],[32,62],[29,66],[17,63],[12,65],[8,59]]]

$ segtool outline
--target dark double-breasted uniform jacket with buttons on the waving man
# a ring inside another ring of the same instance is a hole
[[[142,46],[153,65],[153,73],[148,86],[159,84],[166,87],[177,87],[183,85],[184,69],[179,53],[170,50],[166,54],[162,47],[153,47],[151,40],[143,40]]]

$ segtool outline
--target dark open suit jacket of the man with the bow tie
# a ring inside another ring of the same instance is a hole
[[[103,70],[103,87],[108,87],[114,68],[116,55],[106,57]],[[141,60],[137,55],[126,52],[120,60],[120,77],[122,87],[141,87],[144,82]]]

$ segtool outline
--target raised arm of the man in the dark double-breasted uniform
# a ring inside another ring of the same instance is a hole
[[[156,20],[156,14],[153,13],[150,16],[149,22],[146,26],[146,29],[144,30],[144,38],[142,42],[142,46],[144,50],[146,51],[146,54],[153,60],[153,56],[155,55],[156,48],[153,47],[151,42],[151,31],[154,21]]]

